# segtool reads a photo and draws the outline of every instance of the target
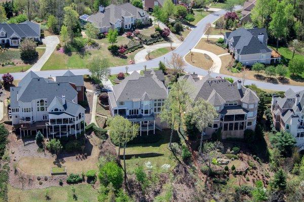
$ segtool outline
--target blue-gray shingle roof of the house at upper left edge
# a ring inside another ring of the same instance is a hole
[[[6,36],[10,38],[13,34],[18,37],[40,37],[40,24],[34,22],[25,21],[20,24],[0,24],[0,30],[6,32]]]

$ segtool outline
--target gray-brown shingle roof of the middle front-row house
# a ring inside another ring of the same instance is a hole
[[[141,76],[134,71],[122,83],[113,86],[116,101],[133,101],[142,99],[146,95],[150,99],[165,99],[167,90],[165,85],[155,76]]]

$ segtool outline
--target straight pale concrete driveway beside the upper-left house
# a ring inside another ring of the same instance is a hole
[[[57,44],[60,43],[58,36],[47,36],[42,39],[42,42],[46,45],[46,52],[41,56],[41,58],[26,72],[29,71],[40,71],[43,65],[48,61]]]

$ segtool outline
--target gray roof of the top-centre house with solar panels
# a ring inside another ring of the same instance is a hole
[[[143,15],[142,15],[143,13]],[[135,19],[148,15],[146,11],[136,8],[130,3],[122,5],[111,4],[105,7],[104,12],[98,12],[88,17],[87,21],[93,23],[96,27],[111,26],[118,20],[122,21],[123,17],[134,16]]]

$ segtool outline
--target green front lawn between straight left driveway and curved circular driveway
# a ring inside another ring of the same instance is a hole
[[[54,51],[46,64],[42,67],[42,70],[57,70],[57,69],[85,69],[87,64],[93,57],[99,57],[101,59],[107,58],[110,66],[121,66],[128,65],[131,59],[134,59],[135,54],[140,51],[140,49],[125,55],[125,57],[113,56],[107,47],[110,45],[107,38],[96,39],[99,45],[99,49],[93,49],[86,51],[85,53],[72,52],[70,54],[59,53]],[[130,39],[119,36],[117,45],[128,44]]]

